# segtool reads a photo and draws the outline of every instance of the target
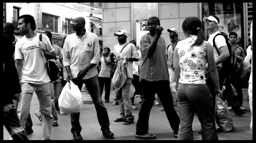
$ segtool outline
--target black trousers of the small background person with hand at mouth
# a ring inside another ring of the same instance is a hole
[[[106,78],[106,77],[98,77],[99,80],[99,85],[100,85],[100,93],[102,96],[103,93],[103,87],[105,84],[105,100],[109,100],[109,96],[110,96],[110,85],[111,85],[111,78]]]

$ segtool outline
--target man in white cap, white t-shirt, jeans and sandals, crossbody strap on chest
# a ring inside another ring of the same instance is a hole
[[[126,81],[124,82],[123,87],[115,90],[116,99],[119,103],[121,103],[120,117],[115,120],[115,122],[124,122],[124,124],[132,124],[134,121],[134,116],[132,115],[132,101],[130,96],[130,86],[133,79],[133,67],[132,62],[139,61],[139,56],[137,54],[136,47],[132,43],[128,43],[127,39],[127,31],[119,30],[117,33],[114,33],[117,36],[117,41],[119,44],[116,44],[113,52],[109,54],[110,60],[112,63],[115,63],[113,56],[118,56],[121,53],[125,54],[128,67],[126,70]]]

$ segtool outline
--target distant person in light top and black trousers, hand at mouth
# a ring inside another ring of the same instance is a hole
[[[110,78],[110,57],[109,57],[110,49],[108,47],[104,48],[104,52],[100,57],[100,62],[98,67],[100,69],[100,73],[98,75],[99,85],[100,85],[100,93],[102,96],[103,87],[105,84],[105,102],[109,102],[110,96],[110,85],[111,85],[111,78]]]

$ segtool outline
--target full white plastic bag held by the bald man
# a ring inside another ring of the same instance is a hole
[[[71,80],[63,87],[58,101],[61,114],[78,113],[83,108],[82,93]]]

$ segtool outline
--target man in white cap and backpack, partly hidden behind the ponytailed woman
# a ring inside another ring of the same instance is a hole
[[[220,32],[218,31],[218,26],[220,23],[219,18],[215,15],[210,15],[209,17],[204,17],[203,21],[205,22],[206,30],[208,30],[209,32],[208,42],[212,45],[212,48],[213,48],[213,56],[214,56],[218,74],[219,74],[220,89],[222,89],[223,83],[227,77],[226,72],[222,68],[222,63],[229,57],[228,46],[226,44],[226,39],[224,38],[224,36],[217,35],[217,34],[220,34]],[[218,54],[216,48],[213,47],[214,37],[215,37],[215,40],[214,40],[215,46],[219,50],[220,55]],[[205,65],[205,69],[208,70],[208,64]],[[210,92],[212,94],[212,102],[213,102],[213,105],[215,105],[215,96],[216,96],[215,86],[210,76],[206,79],[206,83],[209,88],[211,87]],[[201,133],[201,130],[198,131],[198,133]]]

